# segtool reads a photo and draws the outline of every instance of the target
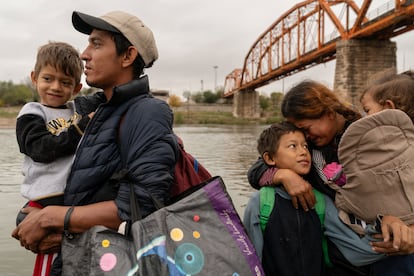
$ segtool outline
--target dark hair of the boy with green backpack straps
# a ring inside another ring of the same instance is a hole
[[[263,130],[257,140],[257,150],[259,151],[260,156],[263,156],[265,152],[268,152],[269,155],[273,156],[276,153],[277,148],[279,148],[282,135],[294,131],[303,133],[300,128],[288,121],[272,124],[270,127]]]

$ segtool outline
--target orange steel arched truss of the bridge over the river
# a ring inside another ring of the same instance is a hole
[[[253,90],[335,59],[341,39],[388,39],[414,29],[414,1],[392,0],[371,7],[352,0],[308,0],[295,5],[250,48],[243,68],[226,76],[224,96]],[[377,1],[375,1],[378,3]]]

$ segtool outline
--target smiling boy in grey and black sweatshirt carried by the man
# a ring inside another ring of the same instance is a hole
[[[70,101],[82,88],[82,72],[83,62],[71,45],[49,42],[39,48],[30,77],[40,102],[25,104],[16,122],[17,142],[24,154],[21,194],[29,200],[28,206],[63,204],[76,147],[99,103],[92,97]],[[20,212],[16,223],[24,217]],[[49,275],[54,255],[38,254],[33,275]]]

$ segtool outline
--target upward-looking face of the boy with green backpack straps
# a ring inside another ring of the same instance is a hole
[[[309,173],[311,156],[303,133],[294,131],[282,135],[273,159],[279,169],[291,169],[299,175]]]

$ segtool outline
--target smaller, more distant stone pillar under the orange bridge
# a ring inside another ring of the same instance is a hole
[[[243,90],[234,94],[233,116],[242,118],[260,118],[259,92]]]

